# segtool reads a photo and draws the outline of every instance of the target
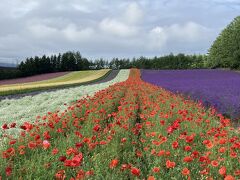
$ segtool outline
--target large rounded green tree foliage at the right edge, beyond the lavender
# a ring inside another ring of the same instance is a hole
[[[207,66],[240,68],[240,16],[236,17],[214,41],[209,49]]]

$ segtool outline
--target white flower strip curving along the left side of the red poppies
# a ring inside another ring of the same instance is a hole
[[[125,81],[128,76],[129,70],[120,70],[113,80],[105,83],[44,92],[21,99],[4,99],[0,101],[0,128],[4,123],[16,122],[19,125],[23,122],[34,122],[38,115],[43,116],[56,110],[63,111],[66,108],[64,103],[69,104],[86,95],[91,96],[110,85]]]

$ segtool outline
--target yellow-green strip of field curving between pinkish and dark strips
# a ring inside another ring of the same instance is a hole
[[[76,71],[57,78],[30,83],[0,85],[0,95],[24,93],[55,87],[65,87],[92,82],[107,75],[109,69]]]

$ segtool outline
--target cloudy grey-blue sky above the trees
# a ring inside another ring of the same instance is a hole
[[[0,59],[206,53],[240,0],[1,0]]]

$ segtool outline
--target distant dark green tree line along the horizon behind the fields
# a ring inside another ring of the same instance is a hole
[[[167,55],[162,57],[133,59],[113,58],[112,60],[89,60],[80,52],[68,51],[63,54],[31,57],[22,61],[16,69],[0,69],[0,79],[26,77],[43,73],[80,71],[90,69],[196,69],[205,68],[206,55]]]

